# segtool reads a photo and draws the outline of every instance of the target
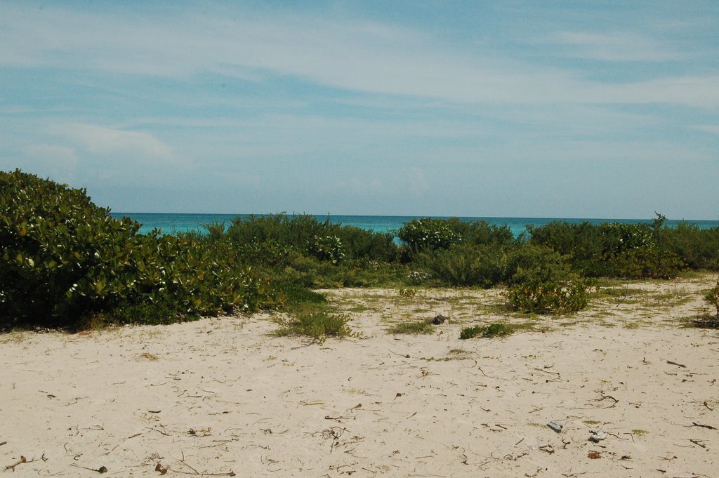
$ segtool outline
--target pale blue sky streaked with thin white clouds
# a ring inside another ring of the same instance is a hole
[[[719,219],[719,1],[0,0],[0,170],[120,213]]]

